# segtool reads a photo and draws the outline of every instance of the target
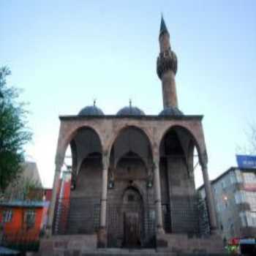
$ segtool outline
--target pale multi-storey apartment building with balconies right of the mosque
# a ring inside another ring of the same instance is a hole
[[[256,234],[256,169],[230,167],[211,181],[217,222],[224,241]],[[198,189],[206,198],[204,186]]]

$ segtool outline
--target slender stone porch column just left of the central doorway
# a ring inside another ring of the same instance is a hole
[[[99,233],[98,233],[98,246],[107,246],[107,194],[108,194],[108,167],[109,157],[108,153],[104,153],[102,156],[102,195],[100,200],[100,219],[99,219]]]

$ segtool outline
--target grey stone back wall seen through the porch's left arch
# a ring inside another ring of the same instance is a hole
[[[102,165],[100,157],[87,158],[70,194],[67,233],[90,234],[99,227]]]

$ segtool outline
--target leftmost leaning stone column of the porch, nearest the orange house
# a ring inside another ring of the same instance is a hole
[[[53,180],[53,191],[50,200],[50,207],[49,207],[49,214],[48,214],[48,223],[47,223],[47,235],[51,236],[53,231],[53,217],[54,217],[54,210],[56,206],[56,197],[57,197],[57,189],[59,186],[59,178],[61,176],[61,164],[56,164],[55,169],[55,176]]]

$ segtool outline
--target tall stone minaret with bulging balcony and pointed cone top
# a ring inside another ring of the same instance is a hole
[[[164,109],[178,108],[175,81],[177,57],[176,53],[170,48],[170,34],[163,17],[161,18],[160,24],[159,45],[160,53],[157,58],[157,75],[160,80],[162,80],[162,100]]]

